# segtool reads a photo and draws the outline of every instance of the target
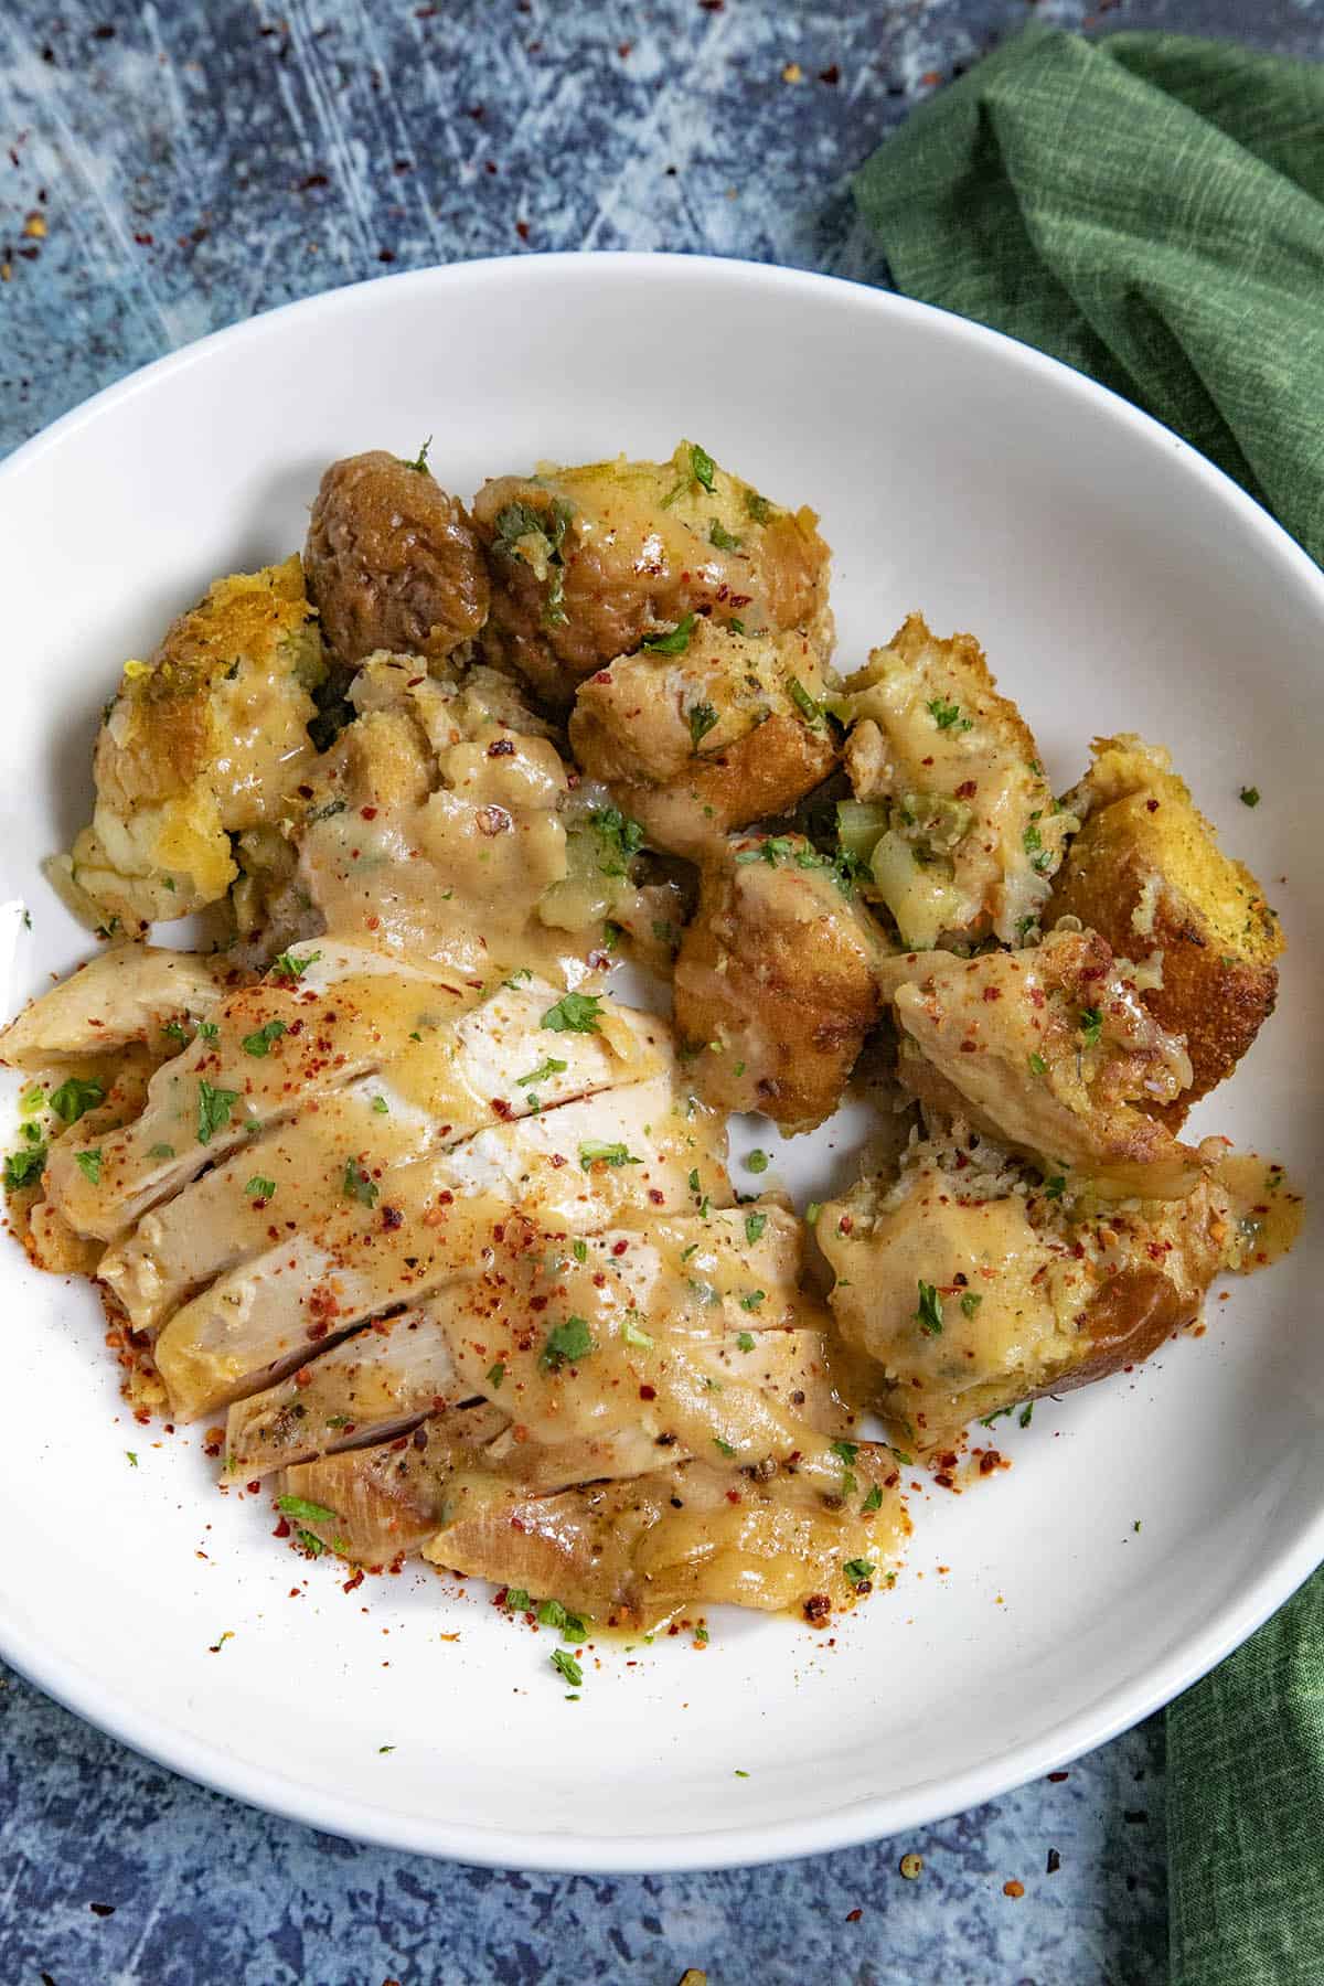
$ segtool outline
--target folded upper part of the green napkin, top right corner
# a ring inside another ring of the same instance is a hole
[[[1324,66],[1028,28],[856,199],[899,290],[1147,407],[1324,562]]]

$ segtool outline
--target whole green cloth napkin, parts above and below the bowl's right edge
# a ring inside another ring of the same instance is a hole
[[[1030,28],[856,181],[897,288],[1147,407],[1324,562],[1324,68]],[[1324,1982],[1324,1573],[1167,1712],[1173,1986]]]

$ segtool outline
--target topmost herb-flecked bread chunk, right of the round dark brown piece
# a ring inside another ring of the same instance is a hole
[[[832,645],[828,546],[697,443],[671,461],[623,455],[496,477],[472,504],[492,572],[488,661],[556,705],[576,683],[687,614],[748,634],[806,630]]]

